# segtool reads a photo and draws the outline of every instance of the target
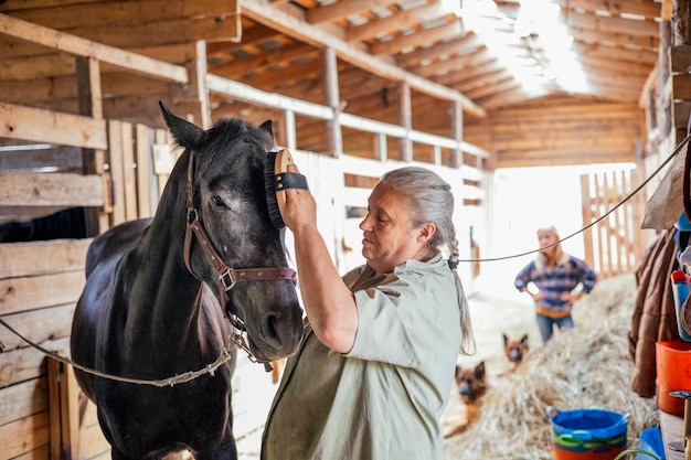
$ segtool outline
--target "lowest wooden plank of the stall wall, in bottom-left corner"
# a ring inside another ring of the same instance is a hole
[[[47,446],[47,411],[0,426],[0,452],[7,459]]]

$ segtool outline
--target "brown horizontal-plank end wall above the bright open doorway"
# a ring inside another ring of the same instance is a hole
[[[464,128],[466,141],[491,152],[489,168],[635,161],[644,110],[573,96],[552,96],[498,110]]]

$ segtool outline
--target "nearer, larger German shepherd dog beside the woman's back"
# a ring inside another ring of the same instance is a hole
[[[479,363],[475,368],[463,368],[456,366],[456,384],[458,385],[458,396],[464,403],[465,415],[459,413],[444,420],[446,428],[444,437],[464,432],[477,419],[480,407],[480,397],[487,392],[487,374],[485,373],[485,362]]]

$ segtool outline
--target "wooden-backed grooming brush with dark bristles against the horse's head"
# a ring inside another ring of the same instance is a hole
[[[289,164],[295,164],[295,162],[290,151],[287,149],[268,152],[264,164],[268,217],[276,228],[286,226],[280,216],[286,207],[286,194],[284,192],[288,189],[309,190],[307,179],[302,174],[288,172]]]

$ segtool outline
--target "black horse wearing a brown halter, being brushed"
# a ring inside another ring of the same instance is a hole
[[[117,377],[166,379],[215,362],[231,323],[246,331],[259,362],[295,353],[302,311],[280,232],[269,221],[264,179],[270,121],[255,128],[223,119],[204,131],[161,109],[184,152],[153,220],[94,238],[74,315],[73,360]],[[233,370],[234,356],[171,386],[76,376],[97,406],[114,459],[189,449],[198,460],[224,460],[236,458]]]

